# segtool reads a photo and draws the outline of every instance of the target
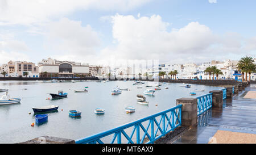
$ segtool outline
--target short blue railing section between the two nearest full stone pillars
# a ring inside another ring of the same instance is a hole
[[[197,116],[203,114],[212,107],[212,94],[205,94],[197,97]]]

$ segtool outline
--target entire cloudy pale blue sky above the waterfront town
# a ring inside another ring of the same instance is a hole
[[[256,56],[255,0],[0,0],[0,64]]]

